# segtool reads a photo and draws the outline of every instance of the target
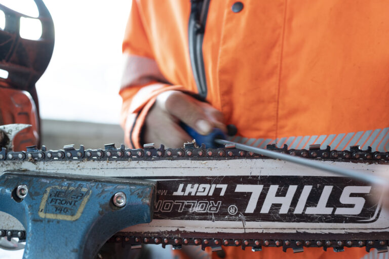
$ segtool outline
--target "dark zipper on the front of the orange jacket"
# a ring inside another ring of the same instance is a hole
[[[207,80],[203,60],[203,39],[210,0],[191,0],[189,16],[189,57],[199,95],[207,97]]]

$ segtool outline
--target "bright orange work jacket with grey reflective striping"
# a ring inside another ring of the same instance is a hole
[[[389,149],[388,1],[239,3],[209,1],[199,26],[205,99],[222,111],[226,124],[237,126],[232,140],[259,147]],[[159,93],[199,93],[190,15],[189,0],[133,2],[120,92],[128,145],[141,145],[144,118]],[[312,250],[316,257],[334,257]],[[347,250],[350,258],[356,253],[362,256],[363,249]]]

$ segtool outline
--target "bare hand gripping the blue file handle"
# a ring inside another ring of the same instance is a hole
[[[147,114],[143,128],[145,143],[182,147],[192,138],[179,125],[180,121],[201,135],[211,133],[215,127],[226,132],[223,114],[210,104],[179,91],[167,91],[157,97]]]

